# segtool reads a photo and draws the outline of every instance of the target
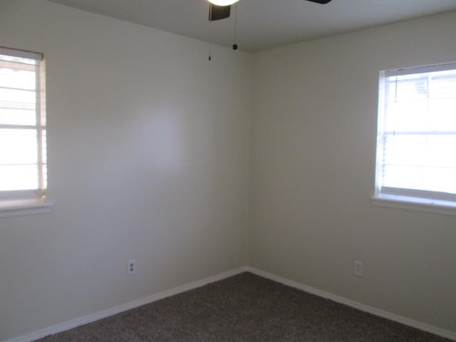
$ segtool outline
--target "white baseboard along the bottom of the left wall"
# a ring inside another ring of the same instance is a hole
[[[230,276],[235,276],[242,272],[247,271],[247,267],[240,267],[239,269],[233,269],[231,271],[227,271],[221,274],[217,274],[215,276],[209,276],[208,278],[194,281],[190,284],[185,284],[182,286],[175,287],[174,289],[166,290],[159,292],[158,294],[152,294],[152,296],[147,296],[142,299],[138,299],[136,301],[130,301],[129,303],[121,304],[119,306],[115,306],[110,309],[106,309],[103,311],[98,311],[95,314],[90,314],[88,316],[83,316],[80,318],[72,319],[71,321],[66,321],[64,323],[57,324],[56,326],[50,326],[48,328],[41,329],[39,331],[35,331],[33,333],[28,333],[24,336],[19,336],[16,338],[11,338],[4,342],[31,342],[38,340],[39,338],[43,338],[45,336],[53,335],[54,333],[61,333],[62,331],[66,331],[72,328],[76,328],[76,326],[82,326],[83,324],[92,323],[94,321],[98,321],[101,318],[106,318],[109,316],[113,316],[115,314],[120,314],[123,311],[127,311],[130,309],[138,308],[138,306],[142,306],[145,304],[150,304],[153,301],[158,301],[160,299],[164,299],[169,296],[174,296],[175,294],[181,294],[182,292],[189,291],[192,289],[197,289],[198,287],[214,283],[215,281],[219,281],[222,279],[229,278]]]

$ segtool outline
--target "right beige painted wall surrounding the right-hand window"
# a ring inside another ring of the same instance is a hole
[[[254,55],[252,266],[456,331],[456,217],[371,204],[378,71],[455,60],[456,13]]]

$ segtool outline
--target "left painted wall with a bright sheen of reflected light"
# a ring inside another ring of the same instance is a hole
[[[0,341],[247,264],[249,54],[42,0],[0,46],[45,55],[54,204],[0,219]]]

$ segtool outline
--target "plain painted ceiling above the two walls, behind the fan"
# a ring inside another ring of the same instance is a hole
[[[222,46],[234,43],[229,19],[209,24],[207,0],[49,0]],[[256,52],[380,24],[456,11],[456,0],[240,0],[237,44]],[[209,33],[210,32],[210,33]]]

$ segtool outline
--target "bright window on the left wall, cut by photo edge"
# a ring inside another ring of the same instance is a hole
[[[0,47],[0,216],[49,206],[44,100],[43,56]]]

